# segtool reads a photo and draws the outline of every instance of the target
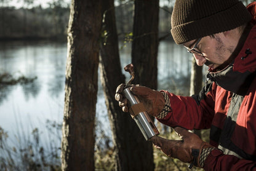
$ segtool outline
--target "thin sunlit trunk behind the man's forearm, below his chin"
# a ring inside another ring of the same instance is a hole
[[[202,89],[202,66],[196,64],[194,57],[191,66],[190,95],[194,95],[198,94]],[[201,130],[193,130],[193,132],[201,137]]]

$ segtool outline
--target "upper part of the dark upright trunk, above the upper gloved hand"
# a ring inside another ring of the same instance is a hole
[[[136,84],[157,88],[159,1],[135,0],[132,63]]]

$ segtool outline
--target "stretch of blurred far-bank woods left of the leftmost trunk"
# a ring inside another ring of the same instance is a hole
[[[68,7],[2,7],[0,13],[0,39],[55,39],[66,36]]]

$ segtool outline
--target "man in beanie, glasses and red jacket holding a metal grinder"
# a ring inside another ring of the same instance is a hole
[[[147,111],[174,127],[182,140],[153,137],[167,156],[205,170],[256,170],[256,2],[247,9],[238,0],[177,0],[172,37],[207,65],[206,84],[192,97],[148,87],[130,87]],[[128,111],[122,97],[116,100]],[[187,130],[209,129],[210,142]]]

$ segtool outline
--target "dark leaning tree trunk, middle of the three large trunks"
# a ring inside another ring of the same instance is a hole
[[[119,84],[124,83],[124,75],[120,67],[118,35],[114,14],[114,1],[103,1],[102,33],[106,33],[100,43],[100,73],[102,87],[105,93],[108,118],[113,132],[113,145],[115,149],[116,170],[141,170],[134,166],[134,156],[137,155],[136,139],[133,136],[137,127],[130,114],[123,113],[114,100],[114,92]],[[144,140],[145,141],[145,140]]]

